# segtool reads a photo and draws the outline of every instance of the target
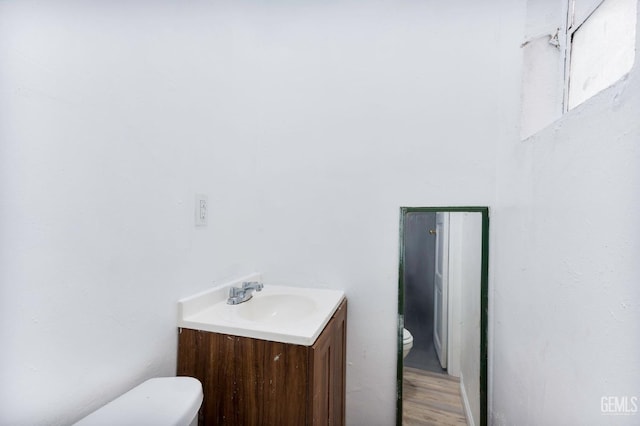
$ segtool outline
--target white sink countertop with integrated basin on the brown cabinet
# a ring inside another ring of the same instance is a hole
[[[260,281],[252,274],[178,302],[178,327],[310,346],[342,300],[344,292],[265,283],[238,305],[227,304],[229,287]]]

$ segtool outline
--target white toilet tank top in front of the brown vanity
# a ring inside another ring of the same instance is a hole
[[[197,426],[202,384],[193,377],[156,377],[80,420],[78,426]]]

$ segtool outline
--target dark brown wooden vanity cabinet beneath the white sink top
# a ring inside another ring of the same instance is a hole
[[[343,425],[347,301],[311,346],[182,328],[178,375],[202,382],[200,425]]]

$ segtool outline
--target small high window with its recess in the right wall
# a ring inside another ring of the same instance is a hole
[[[523,138],[631,70],[636,17],[637,0],[528,0]]]

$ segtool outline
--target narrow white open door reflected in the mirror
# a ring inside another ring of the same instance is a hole
[[[433,344],[447,368],[447,280],[449,275],[449,213],[436,213],[436,265],[433,297]]]

